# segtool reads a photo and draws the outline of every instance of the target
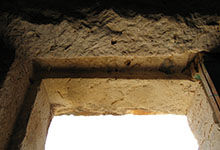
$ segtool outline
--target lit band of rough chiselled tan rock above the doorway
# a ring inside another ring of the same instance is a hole
[[[71,58],[210,51],[218,46],[220,32],[217,25],[193,28],[172,16],[125,18],[108,9],[85,20],[64,18],[57,24],[15,18],[8,25],[7,36],[19,49],[18,55]]]

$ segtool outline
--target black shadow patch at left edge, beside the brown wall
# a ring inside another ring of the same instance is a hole
[[[15,58],[15,49],[8,46],[6,42],[5,38],[0,35],[0,88]]]

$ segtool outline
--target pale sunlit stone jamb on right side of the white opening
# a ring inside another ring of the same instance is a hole
[[[213,110],[201,84],[195,91],[195,98],[187,117],[192,132],[198,140],[199,150],[220,149],[220,130],[214,122]]]

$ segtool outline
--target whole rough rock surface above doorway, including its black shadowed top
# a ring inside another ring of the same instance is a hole
[[[214,51],[219,2],[1,2],[0,33],[18,56],[158,55]]]

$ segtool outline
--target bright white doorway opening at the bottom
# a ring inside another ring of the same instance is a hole
[[[198,150],[186,116],[56,116],[46,150]]]

